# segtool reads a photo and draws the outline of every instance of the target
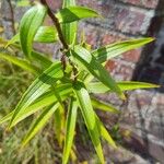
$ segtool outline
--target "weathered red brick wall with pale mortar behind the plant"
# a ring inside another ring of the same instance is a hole
[[[61,5],[61,1],[47,1],[54,10]],[[7,1],[3,0],[3,3],[7,4]],[[131,80],[132,78],[138,80],[139,77],[145,77],[141,75],[143,74],[142,72],[149,68],[151,61],[154,61],[151,60],[152,56],[156,56],[154,48],[157,46],[154,45],[162,46],[162,38],[159,38],[161,37],[164,22],[162,16],[163,0],[78,0],[78,3],[91,7],[104,16],[104,19],[91,19],[80,23],[80,28],[85,31],[86,39],[93,48],[128,38],[148,35],[157,37],[156,42],[147,48],[128,51],[109,60],[106,65],[106,69],[118,81]],[[7,11],[3,10],[2,12],[2,24],[5,28],[9,28],[8,24],[10,25],[11,21],[7,19]],[[15,19],[20,20],[20,9],[15,10]],[[49,46],[47,50],[49,52],[55,51],[55,47]],[[152,62],[152,66],[154,66],[154,62]],[[159,62],[156,62],[156,66],[159,66]],[[152,77],[151,73],[153,72],[160,73],[159,70],[150,70],[145,74]],[[164,69],[161,72],[163,73]],[[159,83],[159,77],[153,77],[152,79],[157,80],[156,83]],[[143,79],[140,78],[140,80]],[[114,97],[114,95],[98,96],[122,109],[121,127],[127,127],[132,131],[132,138],[126,141],[127,147],[132,148],[134,152],[138,152],[144,159],[149,159],[152,163],[155,163],[155,161],[163,163],[164,95],[159,90],[138,90],[128,93],[129,98],[126,103]]]

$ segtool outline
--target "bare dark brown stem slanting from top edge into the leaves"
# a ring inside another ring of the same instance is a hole
[[[63,37],[63,34],[62,34],[62,31],[61,31],[60,23],[59,23],[58,19],[57,19],[57,17],[55,16],[55,14],[51,12],[51,10],[50,10],[49,5],[47,4],[46,0],[40,0],[40,2],[42,2],[45,7],[47,7],[48,15],[49,15],[49,17],[51,19],[54,25],[55,25],[56,28],[57,28],[57,32],[58,32],[58,35],[59,35],[59,39],[60,39],[60,42],[61,42],[61,44],[62,44],[62,46],[63,46],[63,49],[69,49],[69,46],[68,46],[68,44],[67,44],[66,40],[65,40],[65,37]]]

